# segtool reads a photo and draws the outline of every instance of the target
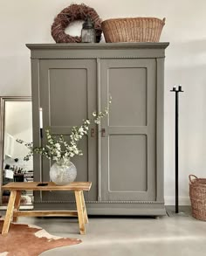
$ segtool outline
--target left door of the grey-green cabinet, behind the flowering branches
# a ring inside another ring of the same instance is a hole
[[[72,126],[79,126],[83,119],[91,118],[96,110],[96,62],[93,59],[43,59],[40,60],[40,106],[43,107],[43,124],[52,135],[65,135],[69,140]],[[94,127],[93,127],[94,128]],[[45,144],[45,135],[44,140]],[[77,168],[76,181],[93,182],[90,200],[96,200],[97,192],[97,138],[91,131],[79,142],[83,156],[71,161]],[[49,180],[52,163],[43,158],[43,181]],[[43,194],[45,201],[69,201],[70,192]]]

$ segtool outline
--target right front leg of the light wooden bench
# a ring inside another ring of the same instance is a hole
[[[84,235],[86,233],[86,227],[85,227],[85,218],[84,218],[81,191],[74,191],[74,193],[75,193],[78,218],[79,218],[79,230],[80,230],[80,234]]]

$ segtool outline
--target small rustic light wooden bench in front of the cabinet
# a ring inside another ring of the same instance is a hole
[[[86,233],[85,224],[88,223],[86,212],[86,204],[83,191],[89,191],[92,183],[76,182],[65,186],[58,186],[55,183],[49,182],[46,186],[38,186],[39,182],[31,183],[8,183],[2,187],[3,190],[10,190],[10,200],[7,206],[6,215],[3,222],[2,234],[6,235],[10,229],[10,221],[17,222],[20,216],[78,216],[80,234]],[[74,191],[77,211],[19,211],[20,199],[23,190],[32,191]]]

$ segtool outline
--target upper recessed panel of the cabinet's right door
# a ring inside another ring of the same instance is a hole
[[[108,70],[109,93],[115,94],[110,126],[145,126],[147,121],[147,69],[118,67]]]

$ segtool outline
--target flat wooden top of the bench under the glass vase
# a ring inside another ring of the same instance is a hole
[[[41,182],[28,182],[28,183],[7,183],[2,187],[3,190],[56,190],[56,191],[89,191],[91,182],[74,182],[68,185],[59,186],[55,183],[48,182],[47,186],[38,186]],[[44,182],[47,183],[47,182]]]

